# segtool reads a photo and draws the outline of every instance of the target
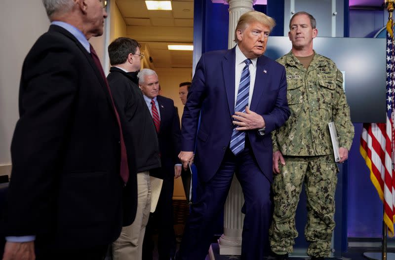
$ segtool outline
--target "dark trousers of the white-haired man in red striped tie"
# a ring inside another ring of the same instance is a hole
[[[158,255],[159,260],[169,260],[174,257],[176,250],[176,237],[173,220],[173,189],[174,177],[167,176],[163,180],[157,209],[151,213],[146,227],[143,243],[143,260],[152,260],[154,243],[152,234],[158,229]]]

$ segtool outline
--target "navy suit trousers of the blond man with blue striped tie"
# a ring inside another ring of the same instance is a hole
[[[200,184],[201,194],[191,206],[177,260],[205,259],[214,235],[214,220],[224,208],[235,172],[245,200],[241,259],[262,260],[268,255],[268,230],[272,221],[271,184],[260,170],[247,140],[244,150],[237,156],[227,149],[214,177]]]

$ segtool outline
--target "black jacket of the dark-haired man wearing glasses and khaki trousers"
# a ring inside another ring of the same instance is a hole
[[[150,170],[155,175],[158,171],[154,169],[160,168],[157,131],[138,86],[137,72],[126,73],[111,67],[107,79],[125,128],[126,150],[138,155],[134,158],[137,172]]]

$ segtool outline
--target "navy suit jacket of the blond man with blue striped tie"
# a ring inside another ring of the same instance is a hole
[[[204,53],[197,63],[182,116],[183,151],[193,151],[198,178],[209,181],[219,169],[232,136],[235,113],[235,48]],[[250,110],[263,116],[266,131],[247,131],[258,165],[270,182],[273,179],[273,147],[270,132],[288,119],[285,69],[261,56]],[[200,126],[198,118],[201,114]]]

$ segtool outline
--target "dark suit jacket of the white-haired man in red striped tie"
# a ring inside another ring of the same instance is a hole
[[[162,171],[167,177],[174,177],[174,164],[180,163],[180,118],[173,100],[162,96],[157,97],[160,113],[158,133]]]

